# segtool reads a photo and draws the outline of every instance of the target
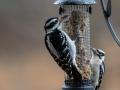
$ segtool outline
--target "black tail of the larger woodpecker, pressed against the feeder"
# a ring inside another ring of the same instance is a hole
[[[82,75],[79,72],[79,68],[75,65],[72,65],[72,75],[75,82],[82,82]]]

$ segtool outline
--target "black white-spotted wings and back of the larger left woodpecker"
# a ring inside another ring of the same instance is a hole
[[[71,62],[68,41],[63,33],[56,30],[45,36],[45,44],[51,56],[57,64],[72,77]]]

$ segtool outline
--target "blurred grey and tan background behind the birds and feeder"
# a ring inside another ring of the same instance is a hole
[[[113,40],[100,0],[93,5],[91,46],[106,52],[100,90],[120,90],[120,47]],[[107,1],[107,0],[106,0]],[[0,0],[0,90],[61,90],[64,73],[44,44],[44,23],[58,14],[55,0]],[[120,38],[120,1],[112,0],[112,25]]]

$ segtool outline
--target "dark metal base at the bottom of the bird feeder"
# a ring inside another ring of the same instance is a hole
[[[75,83],[73,80],[65,80],[65,86],[62,90],[94,90],[91,80],[82,80],[82,83]]]

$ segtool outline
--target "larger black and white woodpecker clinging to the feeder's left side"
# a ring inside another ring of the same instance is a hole
[[[68,15],[61,18],[54,17],[46,21],[45,45],[56,63],[68,75],[70,79],[81,81],[79,68],[76,64],[76,46],[65,31],[62,30],[62,21]]]

